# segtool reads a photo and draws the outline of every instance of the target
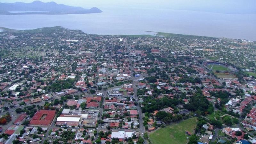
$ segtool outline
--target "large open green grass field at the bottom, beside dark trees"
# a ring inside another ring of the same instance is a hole
[[[160,128],[149,134],[152,144],[186,144],[186,131],[194,133],[196,128],[197,118],[189,118],[181,121],[179,124],[172,124],[166,128]]]

